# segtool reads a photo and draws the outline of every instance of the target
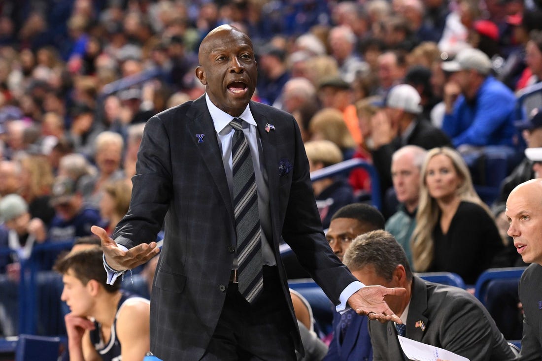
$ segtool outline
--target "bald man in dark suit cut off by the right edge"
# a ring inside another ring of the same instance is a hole
[[[520,360],[542,358],[542,179],[516,186],[506,201],[508,235],[526,263],[521,275],[519,300],[523,305]]]

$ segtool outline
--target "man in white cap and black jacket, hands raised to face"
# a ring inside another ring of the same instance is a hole
[[[373,164],[380,176],[380,189],[385,195],[391,188],[391,156],[405,145],[417,145],[423,149],[451,146],[450,139],[440,129],[421,117],[421,97],[418,91],[408,85],[392,87],[384,100],[377,106],[382,107],[372,119]],[[386,215],[395,209],[384,209]]]

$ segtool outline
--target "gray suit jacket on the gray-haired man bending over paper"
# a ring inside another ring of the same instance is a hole
[[[491,315],[473,295],[416,276],[412,282],[407,338],[455,352],[471,361],[515,359]],[[370,321],[369,333],[373,360],[406,359],[392,321]]]

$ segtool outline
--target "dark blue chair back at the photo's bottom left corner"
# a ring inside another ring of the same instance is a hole
[[[19,335],[15,361],[57,361],[60,356],[60,337]]]

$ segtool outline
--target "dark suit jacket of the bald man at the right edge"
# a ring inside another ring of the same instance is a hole
[[[542,266],[532,263],[521,275],[519,300],[523,305],[520,360],[542,359]]]

